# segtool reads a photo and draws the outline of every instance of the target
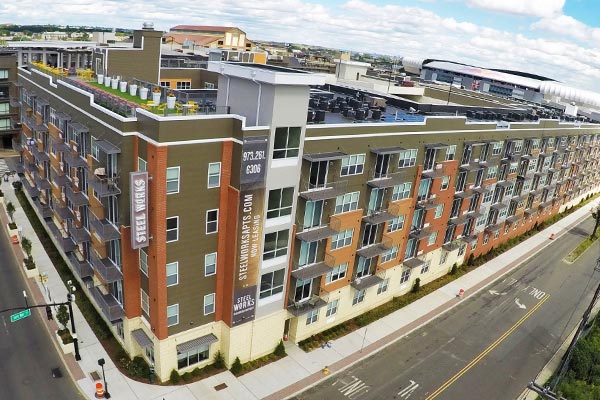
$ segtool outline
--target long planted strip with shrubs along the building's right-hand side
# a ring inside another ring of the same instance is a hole
[[[376,307],[372,310],[365,312],[364,314],[361,314],[357,317],[351,318],[351,319],[349,319],[345,322],[342,322],[332,328],[329,328],[323,332],[317,333],[316,335],[313,335],[307,339],[304,339],[304,340],[300,341],[298,343],[298,345],[304,351],[311,351],[311,350],[316,349],[317,347],[322,346],[324,343],[327,343],[329,340],[334,340],[334,339],[340,338],[350,332],[353,332],[363,326],[370,324],[371,322],[375,322],[378,319],[381,319],[381,318],[385,317],[386,315],[389,315],[389,314],[393,313],[394,311],[397,311],[397,310],[401,309],[402,307],[405,307],[408,304],[420,299],[421,297],[427,296],[429,293],[436,291],[437,289],[439,289],[439,288],[447,285],[448,283],[454,281],[455,279],[461,277],[462,275],[474,270],[475,268],[479,267],[480,265],[485,264],[486,262],[494,259],[495,257],[499,256],[500,254],[504,253],[505,251],[508,251],[511,248],[513,248],[514,246],[518,245],[522,241],[524,241],[524,240],[528,239],[529,237],[535,235],[536,233],[546,229],[547,227],[555,224],[556,222],[560,221],[562,218],[564,218],[567,215],[571,214],[572,212],[578,210],[579,208],[585,206],[590,201],[598,198],[599,196],[600,196],[600,193],[593,195],[593,196],[588,195],[585,198],[585,200],[582,200],[579,204],[566,209],[561,214],[553,215],[551,218],[548,218],[547,220],[545,220],[544,222],[542,222],[540,224],[534,225],[533,229],[525,232],[521,236],[517,236],[517,237],[507,240],[506,242],[502,243],[500,246],[498,246],[496,248],[492,248],[486,254],[482,254],[479,257],[473,257],[473,255],[471,254],[471,257],[469,257],[469,259],[467,260],[467,262],[465,264],[463,264],[461,266],[457,266],[456,264],[454,264],[454,266],[452,267],[452,270],[450,271],[450,273],[448,275],[444,275],[436,280],[429,282],[426,285],[419,286],[418,288],[413,288],[416,290],[413,290],[412,292],[407,293],[403,296],[394,297],[392,300],[380,305],[379,307]]]

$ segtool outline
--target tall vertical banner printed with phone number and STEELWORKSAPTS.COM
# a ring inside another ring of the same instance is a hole
[[[252,321],[255,315],[262,256],[267,151],[267,136],[244,139],[231,317],[233,326]]]

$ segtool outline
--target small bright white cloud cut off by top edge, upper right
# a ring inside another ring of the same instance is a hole
[[[560,14],[565,5],[565,0],[465,0],[465,2],[484,10],[538,18]]]

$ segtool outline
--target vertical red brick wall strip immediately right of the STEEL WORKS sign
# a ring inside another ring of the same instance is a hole
[[[169,336],[167,329],[167,147],[148,143],[150,246],[148,247],[148,274],[150,298],[150,325],[158,339]]]

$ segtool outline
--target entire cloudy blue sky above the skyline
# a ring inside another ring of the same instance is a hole
[[[438,58],[600,93],[599,0],[13,0],[0,22],[168,30],[237,26],[253,40]]]

